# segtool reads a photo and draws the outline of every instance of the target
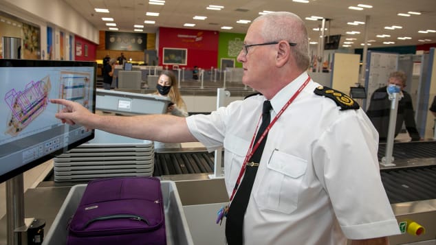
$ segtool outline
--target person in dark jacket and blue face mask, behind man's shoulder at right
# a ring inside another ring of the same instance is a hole
[[[388,85],[394,84],[400,87],[401,100],[398,102],[397,121],[395,124],[395,137],[400,133],[403,123],[406,124],[408,135],[412,141],[419,141],[421,136],[416,128],[415,113],[413,111],[412,97],[404,88],[406,87],[407,75],[403,71],[394,71],[389,75]],[[387,93],[387,85],[374,91],[367,115],[378,131],[380,142],[385,142],[389,130],[389,115],[391,113],[391,100]]]

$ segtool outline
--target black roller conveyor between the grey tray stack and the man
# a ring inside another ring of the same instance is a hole
[[[153,176],[213,172],[214,157],[208,152],[155,153]]]

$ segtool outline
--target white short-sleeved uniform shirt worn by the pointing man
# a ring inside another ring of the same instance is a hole
[[[272,118],[307,77],[272,98]],[[400,233],[380,179],[377,131],[362,109],[340,110],[314,94],[317,86],[311,80],[268,132],[244,218],[245,244],[336,245]],[[229,196],[264,100],[253,96],[187,118],[208,150],[224,144]]]

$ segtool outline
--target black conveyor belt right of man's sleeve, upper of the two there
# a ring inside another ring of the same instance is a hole
[[[378,161],[386,154],[386,143],[378,146]],[[393,157],[402,159],[428,159],[436,157],[436,141],[414,141],[393,144]]]

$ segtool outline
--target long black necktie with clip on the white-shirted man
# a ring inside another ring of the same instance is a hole
[[[256,139],[254,139],[254,145],[257,143],[259,137],[261,137],[263,131],[268,127],[271,120],[270,110],[272,109],[271,102],[265,100],[263,102],[262,110],[262,124],[257,131]],[[250,193],[253,187],[254,178],[256,177],[257,168],[261,161],[263,148],[265,147],[266,138],[265,135],[259,147],[254,152],[252,157],[248,160],[246,172],[243,175],[242,181],[237,189],[235,197],[232,200],[230,208],[228,210],[226,218],[226,239],[229,245],[241,245],[243,241],[243,216],[246,214],[248,200],[250,200]],[[251,164],[256,163],[256,164]]]

